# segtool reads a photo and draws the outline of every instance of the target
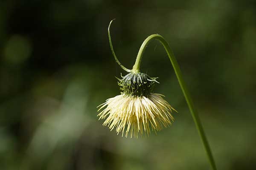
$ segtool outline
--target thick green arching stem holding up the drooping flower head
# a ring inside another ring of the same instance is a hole
[[[168,42],[166,42],[166,40],[161,35],[158,35],[158,34],[153,34],[153,35],[150,35],[149,37],[147,37],[144,40],[144,42],[141,45],[141,47],[140,47],[139,53],[138,53],[137,58],[136,58],[136,62],[135,62],[134,67],[133,67],[133,69],[131,71],[134,72],[134,73],[140,72],[140,62],[141,62],[141,58],[143,56],[143,53],[145,51],[145,48],[148,45],[148,43],[151,40],[154,40],[154,39],[159,40],[161,42],[161,44],[164,46],[164,48],[165,48],[165,50],[166,50],[166,52],[168,54],[168,57],[169,57],[170,61],[172,62],[172,66],[174,68],[175,74],[176,74],[177,79],[178,79],[178,81],[180,83],[180,88],[181,88],[181,90],[182,90],[182,92],[183,92],[183,94],[185,96],[186,102],[187,102],[187,104],[189,106],[189,110],[190,110],[191,115],[193,117],[193,120],[195,122],[195,126],[196,126],[196,128],[198,130],[198,133],[199,133],[199,135],[201,137],[201,140],[202,140],[202,142],[204,144],[204,149],[205,149],[205,151],[207,153],[209,162],[210,162],[210,164],[212,166],[212,170],[216,170],[215,161],[213,159],[209,143],[207,142],[207,137],[206,137],[206,135],[204,133],[204,128],[203,128],[203,126],[201,124],[201,121],[200,121],[199,116],[198,116],[198,112],[195,109],[195,106],[194,106],[192,98],[191,98],[191,96],[189,94],[189,91],[187,90],[186,84],[184,82],[184,79],[183,79],[181,71],[180,71],[180,67],[179,67],[179,65],[177,63],[176,58],[174,57],[174,54],[172,53],[171,48],[168,45]]]

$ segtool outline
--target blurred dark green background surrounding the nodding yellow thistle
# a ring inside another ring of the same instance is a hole
[[[169,128],[126,139],[96,107],[120,94],[107,37],[128,68],[150,34],[177,57],[219,170],[256,168],[256,3],[237,0],[1,0],[0,170],[209,170],[159,42],[142,71],[179,112]]]

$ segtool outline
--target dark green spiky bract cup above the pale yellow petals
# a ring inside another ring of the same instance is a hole
[[[121,75],[122,77],[122,75]],[[117,78],[117,77],[116,77]],[[120,86],[121,94],[128,96],[146,96],[153,92],[154,84],[157,82],[158,77],[149,77],[145,73],[129,73],[119,79],[118,85]],[[159,82],[157,82],[159,83]]]

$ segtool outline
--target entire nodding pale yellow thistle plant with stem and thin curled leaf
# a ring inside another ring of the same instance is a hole
[[[140,73],[140,62],[146,46],[151,40],[159,40],[165,48],[172,63],[180,88],[189,106],[191,116],[204,144],[204,149],[207,153],[212,170],[217,170],[207,137],[204,133],[204,128],[201,124],[189,91],[186,88],[186,83],[182,77],[180,67],[171,48],[169,47],[168,42],[159,34],[152,34],[148,36],[140,47],[132,70],[129,70],[119,62],[113,50],[110,36],[110,26],[112,21],[113,20],[111,20],[108,26],[110,48],[116,62],[129,74],[122,77],[122,79],[118,79],[118,85],[122,91],[121,95],[107,99],[105,103],[98,106],[100,107],[99,110],[104,108],[98,115],[99,119],[107,118],[103,125],[108,125],[111,130],[116,128],[116,132],[122,133],[122,135],[125,132],[126,137],[129,133],[131,134],[131,137],[133,134],[135,137],[138,137],[138,133],[149,134],[150,129],[158,131],[163,127],[171,125],[174,120],[171,112],[172,110],[175,111],[175,109],[162,98],[163,95],[153,93],[154,83],[157,82],[157,78],[151,78],[147,74]]]

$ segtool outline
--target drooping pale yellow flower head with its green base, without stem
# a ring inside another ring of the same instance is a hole
[[[103,126],[110,130],[116,128],[117,134],[138,137],[138,134],[149,135],[168,127],[174,121],[172,111],[176,111],[163,99],[162,94],[153,93],[157,78],[143,73],[129,73],[119,79],[121,95],[107,99],[99,105],[102,110],[99,119],[105,119]]]

